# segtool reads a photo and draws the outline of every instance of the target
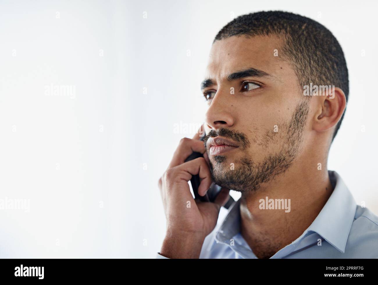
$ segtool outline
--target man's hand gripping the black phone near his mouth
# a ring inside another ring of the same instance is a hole
[[[200,157],[185,162],[192,152],[203,153],[206,149],[199,140],[198,132],[193,139],[183,138],[178,145],[166,172],[159,179],[167,219],[167,232],[160,254],[169,258],[198,258],[204,238],[217,224],[220,208],[228,199],[229,189],[223,188],[214,203],[195,201],[188,181],[199,174],[201,183],[198,194],[204,196],[212,181],[208,163]]]

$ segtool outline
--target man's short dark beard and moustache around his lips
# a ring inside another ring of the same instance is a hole
[[[230,138],[240,144],[245,156],[238,161],[238,167],[230,169],[226,165],[226,157],[223,155],[214,156],[214,163],[210,160],[210,171],[215,184],[235,191],[256,191],[262,183],[266,183],[279,174],[285,172],[296,158],[303,139],[303,129],[309,111],[308,101],[302,100],[294,110],[291,119],[283,123],[283,132],[272,133],[266,130],[264,136],[259,141],[254,139],[254,143],[267,149],[269,144],[281,145],[277,152],[269,153],[261,162],[256,163],[246,149],[250,146],[248,137],[235,130],[220,128],[211,130],[204,138],[206,150],[209,137],[223,136]],[[259,136],[260,138],[261,136]],[[210,158],[210,156],[209,156]]]

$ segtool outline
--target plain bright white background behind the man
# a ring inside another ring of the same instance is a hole
[[[350,97],[328,168],[378,215],[377,4],[135,2],[0,3],[0,199],[30,201],[29,212],[0,210],[0,257],[155,257],[166,226],[157,181],[194,132],[174,125],[203,122],[218,30],[261,10],[310,17],[341,43]],[[46,96],[51,84],[76,94]]]

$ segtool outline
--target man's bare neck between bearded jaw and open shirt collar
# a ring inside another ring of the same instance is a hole
[[[292,166],[257,191],[242,193],[240,231],[258,258],[270,258],[296,240],[318,216],[333,191],[324,168]],[[290,199],[290,211],[270,209],[269,199]]]

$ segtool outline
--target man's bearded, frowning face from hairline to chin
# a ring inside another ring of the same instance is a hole
[[[212,46],[202,86],[209,105],[204,141],[218,185],[256,190],[299,153],[308,99],[281,47],[267,36],[232,36]]]

